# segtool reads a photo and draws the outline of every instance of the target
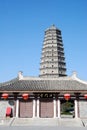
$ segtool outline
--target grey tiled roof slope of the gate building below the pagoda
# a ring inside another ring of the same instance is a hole
[[[0,84],[0,91],[87,91],[87,84],[75,79],[18,78]]]

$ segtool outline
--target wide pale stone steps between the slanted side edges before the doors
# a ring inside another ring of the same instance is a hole
[[[83,127],[80,119],[58,119],[58,118],[15,118],[12,126],[74,126]]]

